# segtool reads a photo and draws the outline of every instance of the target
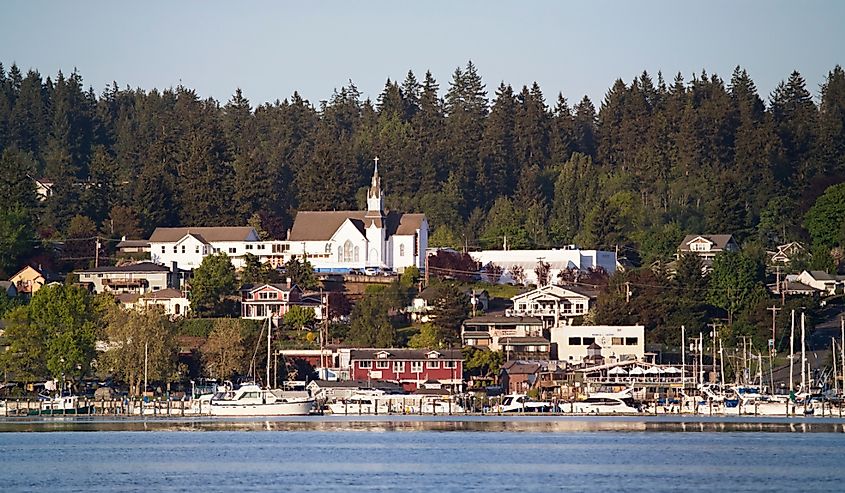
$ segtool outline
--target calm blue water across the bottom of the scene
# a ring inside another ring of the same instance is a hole
[[[16,421],[0,423],[0,491],[845,488],[841,422],[762,423]]]

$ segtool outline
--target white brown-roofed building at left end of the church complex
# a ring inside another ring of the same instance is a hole
[[[247,244],[257,244],[258,233],[251,227],[218,226],[210,228],[156,228],[150,236],[150,256],[158,264],[193,270],[202,259],[223,252],[232,265],[243,265]]]

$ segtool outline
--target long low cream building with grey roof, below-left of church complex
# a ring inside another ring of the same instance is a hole
[[[173,288],[181,289],[186,272],[175,265],[167,268],[152,262],[121,266],[103,266],[76,271],[79,283],[94,293],[135,293]]]

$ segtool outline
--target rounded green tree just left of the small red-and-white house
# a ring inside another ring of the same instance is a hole
[[[191,281],[191,310],[198,315],[225,315],[231,311],[226,298],[235,293],[235,268],[223,253],[202,259]]]

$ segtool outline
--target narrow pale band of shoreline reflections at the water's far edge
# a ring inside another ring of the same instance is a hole
[[[79,418],[0,420],[0,432],[64,431],[438,431],[438,432],[788,432],[845,433],[845,421],[824,418],[695,417],[296,417]]]

